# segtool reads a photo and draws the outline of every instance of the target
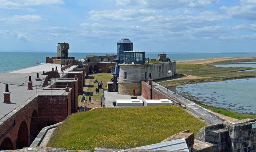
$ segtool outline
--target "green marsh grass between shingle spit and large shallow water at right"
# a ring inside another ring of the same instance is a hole
[[[189,73],[193,76],[205,77],[202,79],[183,79],[169,81],[169,84],[178,83],[194,83],[203,81],[220,81],[224,79],[242,78],[242,77],[255,77],[256,71],[238,72],[247,69],[256,69],[249,67],[215,67],[206,64],[177,64],[176,70],[178,73]],[[158,83],[160,85],[167,85],[167,81]]]

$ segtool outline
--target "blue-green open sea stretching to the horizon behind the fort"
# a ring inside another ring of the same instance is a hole
[[[71,56],[75,56],[76,59],[83,59],[88,54],[94,55],[105,55],[105,54],[115,54],[115,53],[72,53]],[[206,59],[206,58],[216,58],[216,57],[244,57],[244,56],[256,56],[252,53],[166,53],[168,57],[172,60],[192,60],[192,59]],[[156,59],[158,53],[146,53],[145,56],[151,59]],[[0,52],[0,64],[4,65],[0,68],[0,73],[13,71],[16,69],[26,68],[36,63],[45,63],[46,56],[57,56],[57,52]]]

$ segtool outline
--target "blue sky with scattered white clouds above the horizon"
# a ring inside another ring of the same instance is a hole
[[[256,0],[0,0],[0,51],[256,52]]]

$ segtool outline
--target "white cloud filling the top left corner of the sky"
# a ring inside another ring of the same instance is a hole
[[[31,6],[39,5],[53,5],[53,4],[64,4],[63,0],[0,0],[1,9],[21,9],[21,10],[30,10]]]

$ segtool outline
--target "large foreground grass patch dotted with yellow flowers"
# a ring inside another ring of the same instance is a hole
[[[128,149],[150,145],[204,123],[178,106],[99,108],[72,114],[55,130],[48,146],[70,150]]]

